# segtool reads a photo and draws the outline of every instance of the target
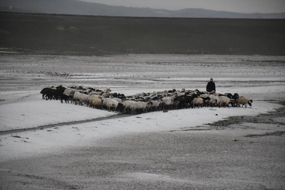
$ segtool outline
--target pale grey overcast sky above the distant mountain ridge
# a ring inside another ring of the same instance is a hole
[[[179,10],[202,8],[236,13],[284,13],[285,0],[81,0],[125,7]]]

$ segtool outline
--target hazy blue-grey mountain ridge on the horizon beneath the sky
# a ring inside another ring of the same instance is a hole
[[[1,0],[0,11],[121,17],[285,19],[285,13],[247,14],[193,8],[172,11],[166,9],[112,6],[76,0]]]

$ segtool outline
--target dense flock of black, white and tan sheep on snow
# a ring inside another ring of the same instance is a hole
[[[42,99],[60,99],[61,103],[75,103],[75,105],[86,104],[97,109],[107,109],[108,111],[120,111],[122,113],[146,113],[150,111],[160,111],[168,109],[183,109],[195,107],[247,107],[251,106],[252,99],[239,96],[237,93],[219,94],[215,91],[200,92],[196,90],[165,90],[153,93],[141,93],[141,95],[125,96],[120,93],[111,93],[111,89],[93,89],[54,87],[49,85],[40,92]]]

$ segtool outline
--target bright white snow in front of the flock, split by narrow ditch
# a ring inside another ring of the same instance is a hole
[[[133,115],[116,119],[51,127],[44,130],[12,132],[1,135],[1,160],[34,156],[64,147],[83,146],[98,138],[131,132],[156,132],[203,127],[229,116],[258,115],[274,111],[280,105],[253,100],[253,107],[170,110]],[[38,92],[31,92],[24,101],[1,105],[1,131],[90,120],[117,114],[60,101],[44,101]],[[217,115],[216,115],[217,114]],[[50,131],[48,131],[50,130]],[[21,138],[13,137],[20,136]]]

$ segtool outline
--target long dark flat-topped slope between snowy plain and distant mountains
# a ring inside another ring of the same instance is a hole
[[[0,14],[0,47],[28,54],[285,55],[284,19]]]

